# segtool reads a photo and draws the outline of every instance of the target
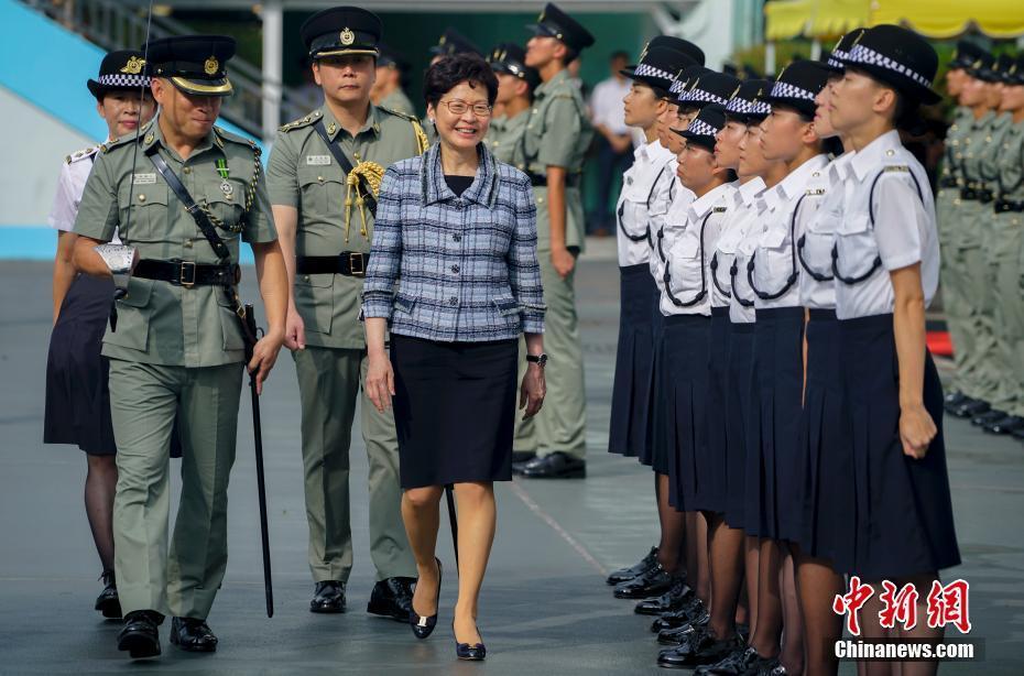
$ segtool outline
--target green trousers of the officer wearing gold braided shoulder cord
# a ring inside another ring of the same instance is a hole
[[[416,577],[399,488],[399,443],[391,411],[362,391],[366,350],[307,346],[292,352],[302,399],[302,455],[309,569],[314,581],[347,581],[352,569],[349,447],[356,403],[370,464],[370,557],[379,580]]]

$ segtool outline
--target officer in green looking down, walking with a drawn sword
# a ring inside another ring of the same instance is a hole
[[[227,565],[228,476],[246,348],[237,316],[239,238],[252,246],[266,306],[266,335],[249,362],[260,388],[284,340],[287,280],[260,153],[214,127],[221,97],[231,92],[225,63],[233,54],[235,41],[217,35],[150,43],[160,115],[137,135],[101,146],[75,222],[80,270],[110,274],[95,247],[115,230],[139,259],[104,338],[118,441],[115,566],[124,611],[118,647],[132,657],[160,654],[156,628],[165,614],[174,615],[172,643],[194,652],[217,646],[206,618]],[[199,215],[186,204],[197,204]],[[184,458],[168,553],[175,418]]]

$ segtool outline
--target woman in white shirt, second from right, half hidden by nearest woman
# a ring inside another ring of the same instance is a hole
[[[831,85],[842,77],[841,58],[864,32],[847,33],[828,58],[829,85],[815,98],[815,133],[837,141],[828,108]],[[832,149],[838,152],[838,149]],[[842,617],[832,611],[832,599],[845,592],[843,570],[852,560],[853,475],[852,446],[842,401],[839,370],[839,328],[832,283],[832,242],[842,219],[848,183],[845,167],[853,151],[832,160],[820,176],[808,182],[797,216],[796,253],[800,263],[800,305],[806,308],[804,407],[800,448],[796,468],[797,494],[803,509],[799,542],[793,547],[797,589],[804,618],[805,672],[835,674],[839,667],[832,646],[842,634]]]

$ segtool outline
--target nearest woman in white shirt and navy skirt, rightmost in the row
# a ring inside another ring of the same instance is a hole
[[[960,563],[954,530],[943,391],[925,344],[925,309],[938,286],[939,248],[928,178],[896,127],[917,117],[935,51],[895,25],[864,31],[832,88],[831,123],[857,154],[832,253],[840,363],[853,438],[857,501],[851,569],[875,595],[861,618],[878,635],[880,582],[913,584],[918,612],[938,570]],[[936,637],[918,621],[901,637]],[[933,672],[905,663],[903,674]]]

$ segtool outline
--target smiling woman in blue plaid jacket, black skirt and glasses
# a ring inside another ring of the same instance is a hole
[[[483,659],[477,601],[497,525],[494,481],[512,479],[520,336],[527,360],[520,408],[544,400],[544,298],[530,179],[483,144],[498,95],[490,66],[457,55],[431,67],[424,94],[438,143],[393,164],[378,198],[363,286],[367,395],[394,402],[402,517],[418,573],[410,623],[437,623],[435,556],[446,484],[458,500],[460,659]],[[384,351],[386,325],[391,355]]]

